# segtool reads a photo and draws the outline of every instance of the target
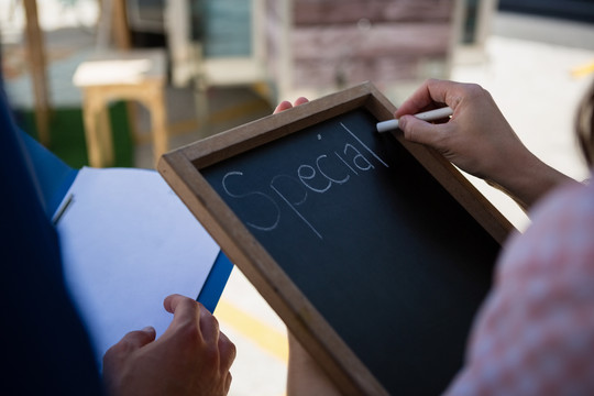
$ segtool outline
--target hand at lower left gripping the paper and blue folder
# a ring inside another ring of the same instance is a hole
[[[155,341],[155,330],[132,331],[103,358],[110,395],[227,395],[235,345],[217,319],[191,298],[172,295],[164,307],[172,323]]]

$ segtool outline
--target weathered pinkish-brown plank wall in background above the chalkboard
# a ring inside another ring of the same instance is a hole
[[[428,77],[427,64],[447,63],[454,2],[293,0],[290,84],[340,88]]]

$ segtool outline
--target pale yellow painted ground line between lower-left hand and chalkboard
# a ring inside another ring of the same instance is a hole
[[[235,331],[252,340],[270,355],[283,363],[288,362],[287,334],[245,314],[226,299],[219,300],[215,316],[220,322],[232,327]]]

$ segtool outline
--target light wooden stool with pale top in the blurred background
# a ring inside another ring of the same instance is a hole
[[[168,150],[165,105],[165,52],[163,50],[98,53],[81,63],[74,85],[82,89],[82,116],[89,165],[113,164],[113,141],[108,105],[113,100],[136,100],[151,113],[155,163]],[[134,120],[131,119],[131,124]],[[135,128],[134,138],[139,140]]]

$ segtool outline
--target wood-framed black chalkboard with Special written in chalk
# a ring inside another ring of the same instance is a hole
[[[513,229],[439,153],[375,132],[394,111],[365,82],[175,150],[157,166],[345,394],[442,391]],[[337,210],[343,188],[344,206],[370,202]],[[312,197],[320,201],[306,208]],[[288,237],[270,237],[280,228]]]

